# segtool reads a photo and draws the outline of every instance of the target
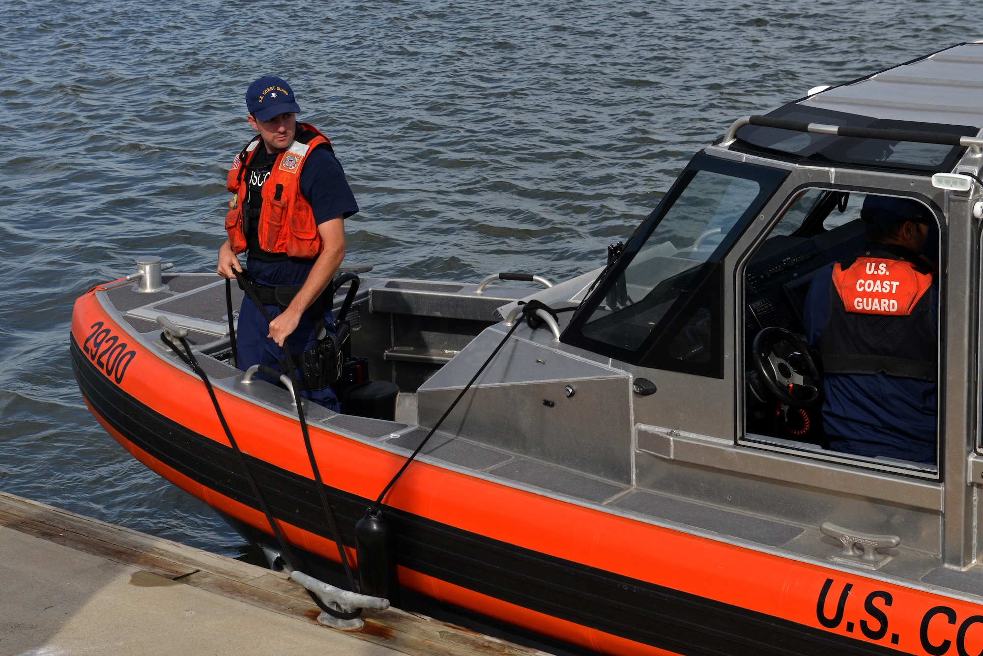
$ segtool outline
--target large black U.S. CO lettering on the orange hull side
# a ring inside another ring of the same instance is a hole
[[[851,595],[853,583],[845,583],[836,590],[833,578],[827,578],[819,593],[816,603],[816,619],[827,629],[837,629],[844,620],[846,601]],[[855,594],[855,593],[854,593]],[[891,636],[891,643],[897,644],[901,637],[896,632],[889,631],[888,609],[894,603],[894,597],[885,590],[873,590],[863,600],[864,617],[857,624],[846,622],[846,632],[854,629],[863,633],[871,640],[880,640]],[[849,615],[849,613],[845,613]],[[916,616],[919,621],[918,641],[926,654],[943,656],[947,653],[959,656],[975,656],[983,653],[983,615],[968,615],[957,617],[949,606],[934,606]],[[979,626],[977,626],[979,625]],[[975,628],[974,628],[975,627]],[[914,626],[911,627],[912,633]],[[970,630],[972,629],[972,630]],[[904,632],[904,631],[902,631]],[[972,642],[972,644],[970,644]],[[955,647],[953,650],[952,647]]]

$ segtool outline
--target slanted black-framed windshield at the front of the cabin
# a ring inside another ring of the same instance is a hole
[[[635,363],[719,375],[718,263],[784,176],[698,155],[625,246],[564,341]],[[653,349],[667,334],[665,349]],[[653,356],[661,364],[649,363],[650,351],[662,354]]]

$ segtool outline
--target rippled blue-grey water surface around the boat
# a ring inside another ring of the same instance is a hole
[[[963,1],[19,2],[0,21],[0,489],[228,555],[72,377],[73,301],[158,254],[214,266],[244,93],[293,85],[383,276],[603,263],[735,118],[983,36]]]

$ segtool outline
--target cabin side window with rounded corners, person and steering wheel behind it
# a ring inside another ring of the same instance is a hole
[[[938,236],[913,198],[797,193],[744,267],[742,443],[937,475]]]

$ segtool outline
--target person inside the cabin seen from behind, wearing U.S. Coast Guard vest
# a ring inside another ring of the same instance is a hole
[[[803,312],[825,369],[830,449],[934,464],[938,286],[922,254],[935,219],[881,195],[866,197],[860,217],[870,242],[816,274]]]

